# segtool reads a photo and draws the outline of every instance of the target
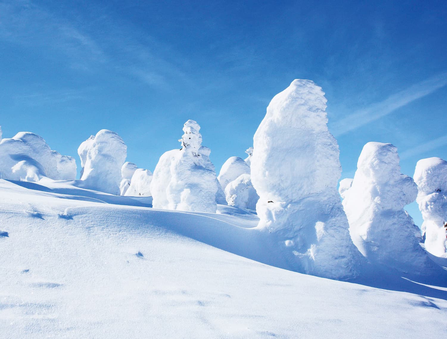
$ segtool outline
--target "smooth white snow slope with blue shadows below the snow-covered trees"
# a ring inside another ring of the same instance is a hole
[[[0,338],[447,335],[441,258],[424,280],[371,265],[329,280],[287,270],[247,209],[157,210],[82,186],[0,180]]]

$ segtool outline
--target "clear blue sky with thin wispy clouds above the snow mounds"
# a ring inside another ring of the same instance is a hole
[[[245,156],[270,99],[310,79],[342,177],[369,141],[396,145],[412,176],[447,159],[446,17],[445,1],[0,0],[0,125],[76,158],[114,130],[153,170],[194,119],[219,170]]]

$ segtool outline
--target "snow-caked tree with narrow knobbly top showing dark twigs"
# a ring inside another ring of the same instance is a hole
[[[181,150],[160,157],[151,183],[154,208],[216,212],[218,181],[209,158],[211,150],[202,146],[199,130],[196,121],[186,121]]]

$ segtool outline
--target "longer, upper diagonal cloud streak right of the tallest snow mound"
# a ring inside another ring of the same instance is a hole
[[[335,121],[331,127],[333,135],[338,137],[356,130],[359,127],[365,126],[372,121],[391,114],[396,109],[408,105],[414,100],[429,95],[445,85],[447,85],[447,72],[434,75],[429,79],[413,84],[401,92],[392,94],[381,102],[375,103],[365,109],[350,114],[341,120]]]

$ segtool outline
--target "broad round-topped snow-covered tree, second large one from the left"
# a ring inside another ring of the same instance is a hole
[[[86,188],[120,194],[121,167],[126,160],[127,146],[110,130],[100,130],[82,142],[78,148]]]

